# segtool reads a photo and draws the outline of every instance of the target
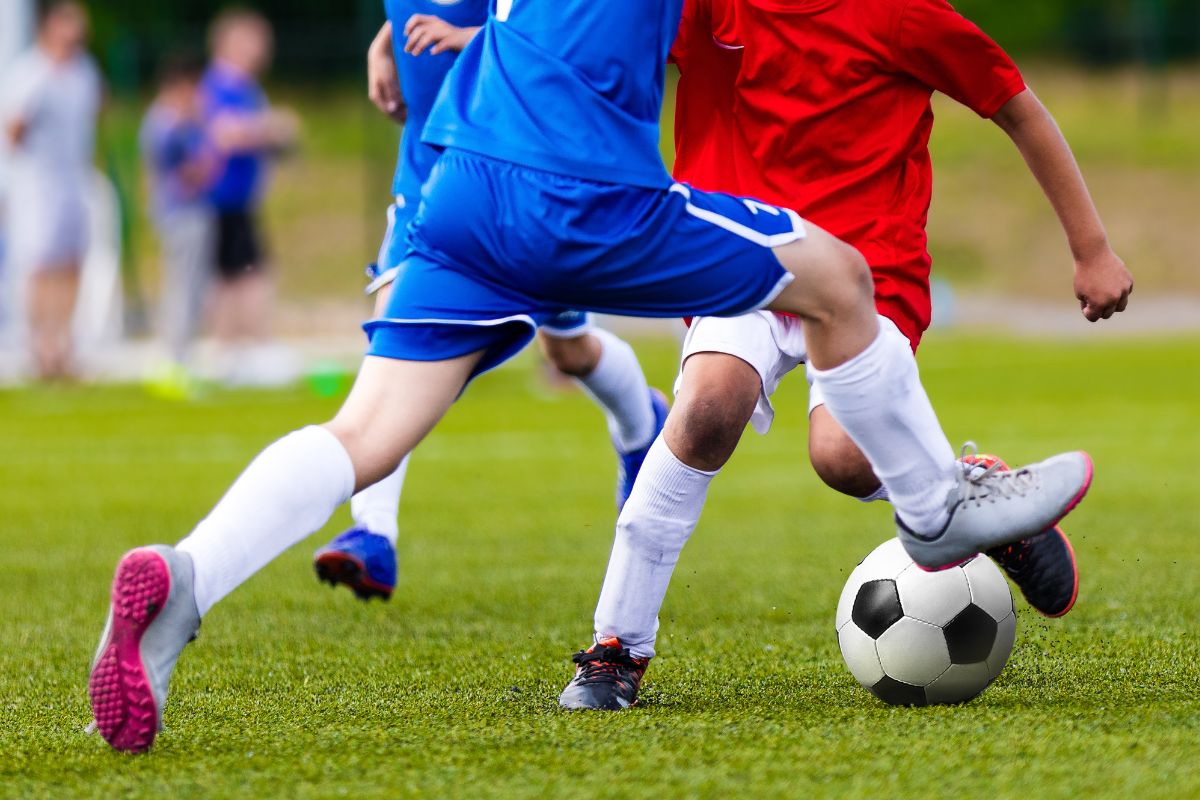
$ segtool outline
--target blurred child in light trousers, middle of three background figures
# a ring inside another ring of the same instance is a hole
[[[203,77],[202,59],[188,54],[168,58],[140,134],[152,218],[162,245],[158,330],[169,355],[169,362],[154,375],[154,385],[184,395],[216,254],[216,215],[209,203],[216,158],[200,109]]]

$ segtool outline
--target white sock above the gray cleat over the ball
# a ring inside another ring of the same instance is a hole
[[[884,325],[846,363],[811,372],[829,413],[866,456],[905,524],[918,533],[941,530],[954,451],[904,336]]]

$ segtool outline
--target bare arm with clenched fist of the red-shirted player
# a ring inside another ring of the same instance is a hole
[[[1109,245],[1084,175],[1054,116],[1026,89],[992,119],[1016,144],[1062,222],[1075,258],[1075,296],[1084,317],[1094,323],[1124,311],[1133,276]]]

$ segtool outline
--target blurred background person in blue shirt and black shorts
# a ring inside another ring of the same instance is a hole
[[[259,221],[268,166],[295,144],[296,116],[272,109],[259,77],[271,62],[274,31],[247,10],[221,13],[209,36],[212,60],[200,84],[218,167],[209,191],[216,212],[214,327],[230,384],[283,383],[269,347],[274,283]],[[287,369],[283,369],[287,372]]]

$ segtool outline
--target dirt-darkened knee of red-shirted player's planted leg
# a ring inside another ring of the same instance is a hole
[[[724,374],[706,371],[703,377],[688,375],[685,371],[684,387],[666,426],[667,445],[676,458],[704,471],[720,469],[733,455],[762,392],[752,367],[731,356],[720,357],[737,363]]]

